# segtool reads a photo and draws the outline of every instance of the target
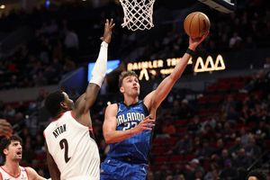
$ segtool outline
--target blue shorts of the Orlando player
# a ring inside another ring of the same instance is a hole
[[[101,180],[145,180],[148,165],[106,158],[101,164]]]

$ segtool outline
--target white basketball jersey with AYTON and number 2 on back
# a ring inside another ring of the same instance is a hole
[[[77,122],[71,111],[52,121],[44,130],[49,154],[61,173],[61,180],[99,180],[100,157],[88,127]]]

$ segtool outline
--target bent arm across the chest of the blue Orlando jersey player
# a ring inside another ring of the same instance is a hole
[[[112,144],[115,142],[120,142],[124,139],[128,139],[131,136],[138,134],[142,130],[152,130],[154,120],[149,119],[149,116],[140,121],[137,126],[130,130],[116,130],[116,114],[117,114],[117,104],[113,103],[109,105],[105,112],[105,120],[103,122],[103,137],[107,144]]]

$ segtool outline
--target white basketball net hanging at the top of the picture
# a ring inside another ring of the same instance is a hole
[[[122,27],[131,31],[154,27],[152,16],[155,0],[120,0],[120,3],[124,12]]]

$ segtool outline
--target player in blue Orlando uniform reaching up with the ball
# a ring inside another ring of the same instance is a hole
[[[101,165],[101,179],[146,179],[151,130],[157,108],[182,75],[193,50],[205,39],[189,39],[189,48],[157,90],[139,101],[139,80],[133,71],[124,71],[119,77],[122,103],[112,103],[105,111],[103,137],[110,150]]]

